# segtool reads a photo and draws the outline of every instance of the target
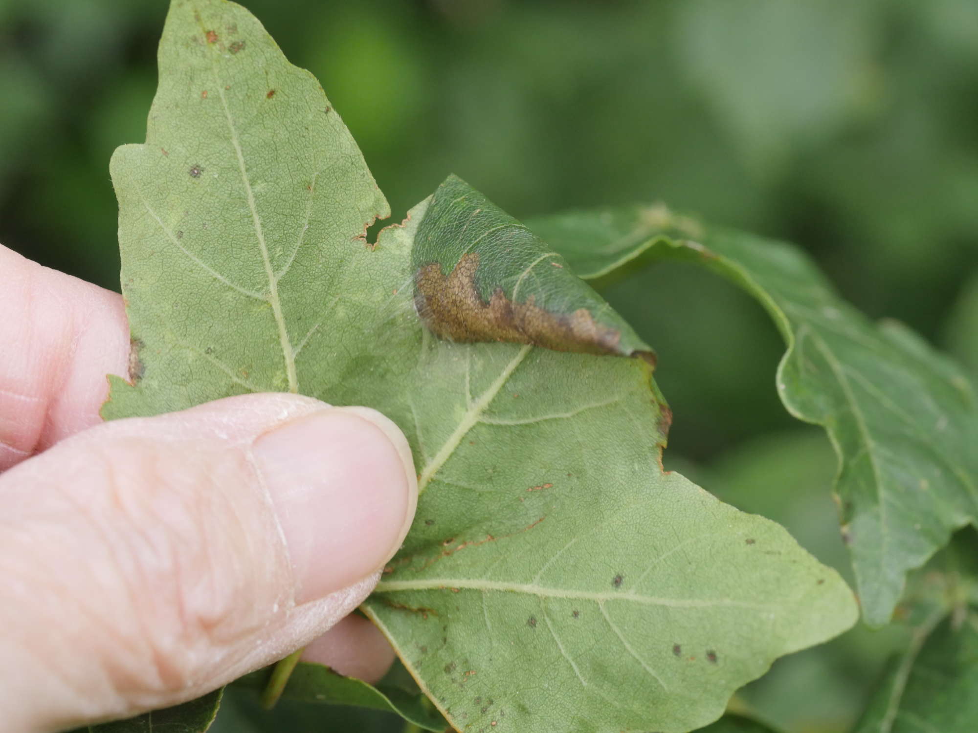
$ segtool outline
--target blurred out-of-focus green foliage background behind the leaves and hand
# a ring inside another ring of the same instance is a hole
[[[975,0],[244,4],[319,77],[395,218],[450,172],[517,217],[662,200],[797,242],[978,371]],[[117,288],[109,157],[144,139],[165,6],[0,0],[0,242]],[[760,308],[681,266],[608,295],[659,352],[667,465],[844,569],[834,459],[778,403]],[[742,697],[845,730],[900,643],[857,629]],[[385,729],[356,720],[322,730]]]

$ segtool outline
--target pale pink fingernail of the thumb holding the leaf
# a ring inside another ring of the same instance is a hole
[[[411,450],[376,410],[330,408],[265,433],[252,447],[285,535],[296,602],[377,572],[414,519]]]

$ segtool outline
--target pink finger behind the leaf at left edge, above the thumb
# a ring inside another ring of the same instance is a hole
[[[0,246],[0,470],[100,421],[124,374],[121,298]]]

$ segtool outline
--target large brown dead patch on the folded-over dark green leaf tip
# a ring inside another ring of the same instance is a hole
[[[415,306],[436,335],[464,342],[533,344],[555,351],[619,353],[621,333],[595,321],[586,308],[552,313],[536,305],[534,295],[513,303],[499,287],[485,302],[475,284],[478,267],[478,252],[468,252],[448,277],[436,262],[418,271]],[[645,352],[636,356],[647,358]]]

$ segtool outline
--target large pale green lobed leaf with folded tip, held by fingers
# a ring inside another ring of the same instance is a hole
[[[845,583],[778,525],[662,472],[669,412],[647,361],[422,325],[412,262],[428,201],[366,244],[386,204],[360,153],[242,8],[173,4],[147,143],[111,172],[135,358],[105,414],[291,390],[395,420],[418,520],[365,610],[456,727],[689,730],[779,655],[854,623]],[[506,224],[470,242],[478,270],[491,263],[480,294],[583,309],[619,328],[617,351],[644,350],[569,274],[510,259],[546,250],[465,195],[464,211],[436,196],[425,233],[444,241],[473,203],[476,224]],[[439,251],[425,261],[461,261]]]

